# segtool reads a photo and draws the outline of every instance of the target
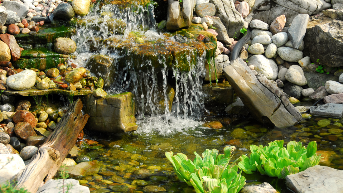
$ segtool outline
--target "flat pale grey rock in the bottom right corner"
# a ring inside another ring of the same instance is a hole
[[[286,176],[286,184],[296,193],[343,192],[343,171],[316,165]]]

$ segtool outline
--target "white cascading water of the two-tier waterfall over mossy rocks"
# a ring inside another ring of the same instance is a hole
[[[141,39],[156,47],[162,44],[159,40],[167,41],[163,44],[170,45],[176,42],[175,36],[157,31],[152,4],[132,4],[126,8],[113,4],[97,4],[86,17],[76,22],[76,27],[77,34],[72,39],[78,46],[78,54],[73,63],[85,67],[85,61],[92,55],[105,55],[113,60],[116,75],[107,92],[135,94],[138,124],[145,128],[139,132],[150,133],[152,129],[160,128],[157,129],[161,130],[159,133],[167,134],[201,124],[200,116],[206,111],[202,92],[206,51],[199,55],[190,46],[183,48],[186,50],[185,57],[173,58],[173,67],[167,65],[168,58],[157,49],[151,54],[156,60],[144,57],[138,59],[132,55],[137,51],[133,47],[139,45]],[[123,45],[129,45],[129,48],[117,49]],[[122,64],[123,61],[125,65]],[[178,68],[179,66],[188,69]],[[170,80],[173,85],[169,84]],[[175,97],[170,94],[171,89],[175,90]],[[174,97],[172,106],[170,97]]]

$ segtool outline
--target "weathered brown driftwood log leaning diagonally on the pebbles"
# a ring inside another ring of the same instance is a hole
[[[88,114],[82,115],[82,107],[80,99],[73,103],[31,162],[12,178],[17,181],[16,189],[35,193],[42,182],[55,176],[89,118]]]

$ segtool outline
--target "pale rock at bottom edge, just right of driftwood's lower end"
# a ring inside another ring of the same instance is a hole
[[[66,190],[65,185],[70,185],[68,192],[78,193],[90,193],[88,187],[80,185],[78,180],[75,179],[59,179],[59,180],[48,180],[43,186],[39,187],[36,193],[60,193]]]

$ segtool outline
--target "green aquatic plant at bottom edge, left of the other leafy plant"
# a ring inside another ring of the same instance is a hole
[[[235,146],[224,148],[224,154],[218,155],[217,149],[206,149],[200,157],[194,152],[194,162],[185,154],[166,152],[165,155],[174,166],[180,181],[193,186],[196,193],[237,193],[245,185],[245,178],[238,174],[234,161],[229,167],[231,154]]]

